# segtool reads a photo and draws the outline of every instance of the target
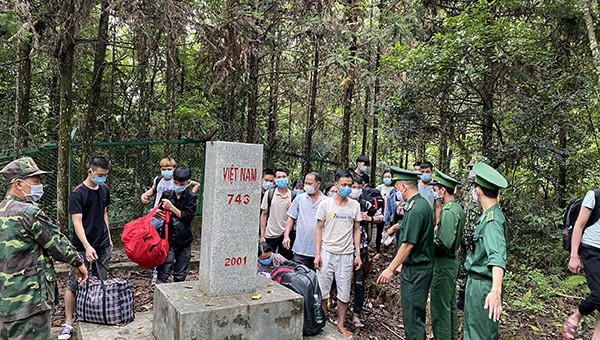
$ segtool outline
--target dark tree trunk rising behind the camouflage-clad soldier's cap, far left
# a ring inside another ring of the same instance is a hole
[[[26,32],[19,39],[17,63],[17,97],[16,97],[16,121],[15,121],[15,151],[27,148],[29,132],[29,111],[31,98],[31,32]]]

